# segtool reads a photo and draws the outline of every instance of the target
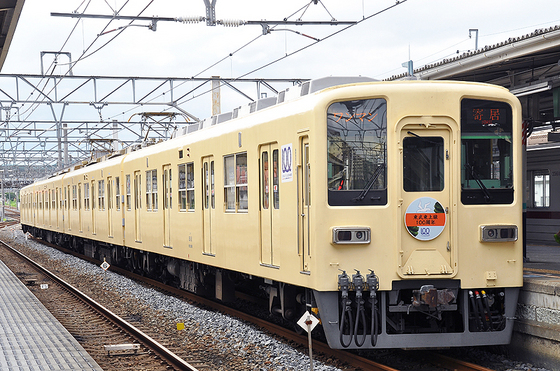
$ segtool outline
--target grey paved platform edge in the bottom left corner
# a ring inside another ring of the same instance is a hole
[[[0,261],[0,370],[102,368]]]

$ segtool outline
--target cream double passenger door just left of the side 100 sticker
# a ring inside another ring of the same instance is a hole
[[[274,225],[279,219],[280,194],[278,178],[278,145],[266,144],[260,150],[260,238],[261,263],[278,265],[274,256],[276,247]]]

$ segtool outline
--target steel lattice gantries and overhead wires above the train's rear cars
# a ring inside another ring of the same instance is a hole
[[[210,116],[216,89],[239,102],[307,79],[0,74],[0,153],[6,187],[133,145],[171,137]],[[218,100],[219,101],[219,100]],[[216,107],[213,113],[219,113]],[[14,184],[12,184],[14,183]]]

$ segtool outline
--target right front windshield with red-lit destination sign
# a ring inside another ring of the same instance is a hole
[[[461,102],[461,201],[513,202],[512,110],[504,102]]]

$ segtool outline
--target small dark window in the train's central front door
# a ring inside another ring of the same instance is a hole
[[[403,189],[406,192],[437,192],[444,187],[442,137],[403,139]]]

